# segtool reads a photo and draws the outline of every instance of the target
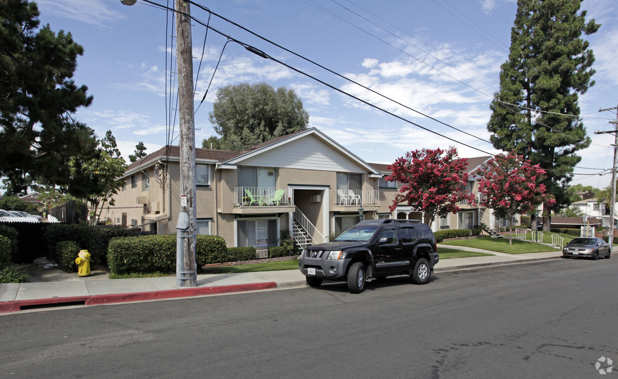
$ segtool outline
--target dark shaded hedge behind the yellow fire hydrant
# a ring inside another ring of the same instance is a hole
[[[130,236],[131,231],[122,227],[91,227],[90,225],[51,224],[45,230],[49,254],[58,260],[56,246],[61,241],[74,241],[80,250],[90,252],[91,264],[107,264],[108,243],[111,238]]]

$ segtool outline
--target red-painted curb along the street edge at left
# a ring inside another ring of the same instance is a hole
[[[260,289],[277,288],[277,283],[268,281],[266,283],[250,283],[243,285],[211,286],[211,287],[192,287],[179,289],[164,289],[162,291],[116,293],[92,296],[71,296],[68,298],[49,298],[34,300],[17,300],[0,302],[0,313],[17,312],[22,307],[43,306],[46,304],[59,304],[63,302],[84,302],[87,306],[98,304],[113,304],[118,302],[146,301],[173,298],[188,298],[191,296],[203,296],[209,294],[232,293],[242,291],[257,291]]]

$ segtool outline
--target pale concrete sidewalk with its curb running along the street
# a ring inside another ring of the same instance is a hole
[[[441,245],[438,245],[438,252],[439,246]],[[448,247],[488,252],[493,255],[442,259],[434,268],[436,273],[562,257],[561,251],[512,255],[461,246]],[[80,278],[77,273],[64,273],[55,267],[46,270],[48,272],[43,278],[45,281],[35,281],[41,280],[37,276],[33,278],[32,283],[0,284],[0,313],[54,304],[56,306],[112,304],[306,285],[305,276],[299,270],[198,275],[197,286],[193,288],[177,288],[175,276],[110,280],[104,272],[95,271],[91,277]]]

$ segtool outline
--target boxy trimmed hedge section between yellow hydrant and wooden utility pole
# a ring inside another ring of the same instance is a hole
[[[107,259],[109,270],[117,274],[174,272],[176,235],[112,238]]]

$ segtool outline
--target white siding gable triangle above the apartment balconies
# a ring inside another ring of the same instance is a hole
[[[237,162],[239,165],[365,173],[366,169],[313,135],[298,138]]]

